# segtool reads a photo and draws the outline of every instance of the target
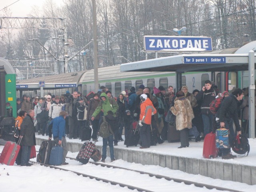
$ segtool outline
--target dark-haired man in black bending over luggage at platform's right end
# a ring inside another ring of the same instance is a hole
[[[232,94],[223,99],[220,106],[220,127],[224,127],[229,130],[230,143],[232,144],[236,138],[236,134],[233,129],[233,121],[236,126],[237,134],[241,134],[241,126],[238,120],[237,104],[242,100],[244,91],[241,89],[235,89]],[[230,148],[222,149],[222,159],[233,159],[235,155],[230,153]]]

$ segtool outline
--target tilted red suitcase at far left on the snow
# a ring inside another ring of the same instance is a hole
[[[18,156],[18,153],[20,151],[20,140],[18,141],[18,144],[15,142],[7,141],[4,145],[4,149],[2,150],[1,156],[0,156],[0,163],[6,164],[6,165],[14,165],[14,162]]]

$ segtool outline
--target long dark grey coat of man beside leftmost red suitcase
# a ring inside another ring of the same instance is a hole
[[[20,144],[25,146],[36,145],[33,119],[27,115],[20,126],[20,135],[23,136]]]

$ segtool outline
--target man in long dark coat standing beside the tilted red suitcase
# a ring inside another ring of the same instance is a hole
[[[20,138],[22,145],[22,154],[21,154],[21,166],[31,166],[28,161],[30,159],[31,147],[36,145],[36,136],[34,130],[34,110],[28,110],[27,116],[23,119],[20,126]]]

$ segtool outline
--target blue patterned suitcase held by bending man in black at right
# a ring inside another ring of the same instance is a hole
[[[220,128],[216,130],[216,148],[230,148],[229,130]]]

